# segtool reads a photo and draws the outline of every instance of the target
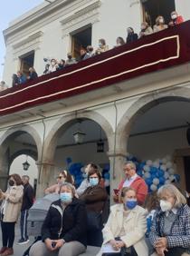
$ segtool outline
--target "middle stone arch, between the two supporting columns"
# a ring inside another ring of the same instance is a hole
[[[43,151],[43,162],[53,162],[53,155],[56,148],[57,140],[59,136],[66,131],[72,123],[76,122],[76,118],[81,119],[89,119],[98,124],[102,130],[106,133],[108,138],[109,148],[113,147],[113,129],[110,123],[103,117],[100,113],[95,111],[85,111],[81,113],[77,113],[77,117],[74,113],[63,116],[57,123],[52,127],[51,132],[47,136],[44,143],[44,151]]]

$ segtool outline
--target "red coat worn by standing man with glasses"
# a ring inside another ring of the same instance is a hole
[[[122,180],[119,183],[119,191],[123,188],[125,180]],[[145,202],[146,196],[147,196],[147,184],[146,182],[141,178],[137,177],[134,182],[130,184],[130,187],[136,190],[137,192],[137,198],[138,198],[138,204],[142,205]]]

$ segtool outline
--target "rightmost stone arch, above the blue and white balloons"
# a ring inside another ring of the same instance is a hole
[[[137,102],[128,108],[118,124],[117,144],[122,145],[127,150],[128,136],[135,120],[157,104],[169,101],[190,102],[190,89],[175,88],[168,91],[154,92],[139,98]]]

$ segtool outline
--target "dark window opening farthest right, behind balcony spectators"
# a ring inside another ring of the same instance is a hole
[[[171,12],[176,10],[175,0],[141,0],[143,5],[144,21],[151,26],[155,25],[158,15],[165,18],[165,23],[170,21]]]

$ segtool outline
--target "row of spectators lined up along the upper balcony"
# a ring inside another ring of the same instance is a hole
[[[165,24],[165,18],[162,15],[158,15],[156,19],[156,24],[151,27],[148,25],[147,22],[143,22],[141,24],[141,29],[139,34],[134,32],[134,29],[132,27],[128,27],[127,33],[128,36],[126,38],[126,41],[122,37],[118,37],[116,40],[116,45],[114,47],[118,47],[123,44],[129,44],[134,41],[137,41],[139,38],[142,38],[148,34],[157,33],[159,31],[162,31],[168,27],[172,27],[175,25],[179,25],[184,22],[184,19],[181,15],[177,15],[176,11],[171,13],[171,20],[168,23],[168,25]],[[102,54],[109,50],[109,45],[106,44],[106,40],[103,38],[100,38],[99,40],[99,46],[97,49],[94,50],[94,48],[91,45],[88,45],[87,47],[81,46],[80,51],[80,57],[75,58],[72,56],[71,53],[67,54],[67,59],[61,59],[60,61],[56,60],[55,58],[48,59],[43,58],[45,64],[45,69],[43,71],[43,74],[51,74],[52,72],[62,70],[71,64],[77,64],[78,62],[81,62],[83,60],[89,59],[90,57]],[[25,75],[22,71],[18,71],[17,74],[13,74],[13,83],[12,86],[18,85],[18,84],[24,84],[26,81],[31,81],[38,77],[38,74],[36,73],[35,69],[33,67],[30,67],[28,70],[28,74]],[[7,89],[8,86],[5,84],[4,81],[0,84],[0,91],[3,91]]]

